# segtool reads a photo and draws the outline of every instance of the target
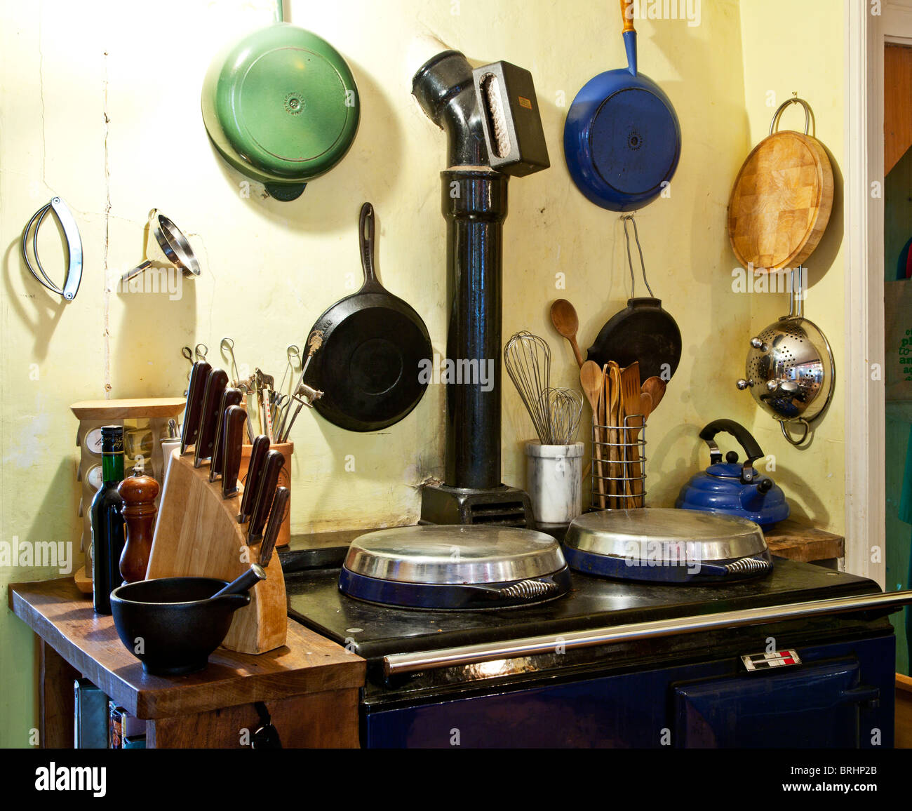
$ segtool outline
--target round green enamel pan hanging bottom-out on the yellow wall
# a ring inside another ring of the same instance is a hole
[[[215,148],[277,200],[295,200],[342,160],[359,109],[337,50],[281,22],[224,48],[202,83],[202,120]]]

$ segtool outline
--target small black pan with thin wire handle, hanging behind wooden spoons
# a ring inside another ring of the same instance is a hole
[[[662,309],[662,302],[655,297],[636,297],[636,281],[633,260],[630,257],[630,237],[627,222],[633,223],[637,239],[639,262],[643,270],[643,282],[652,296],[652,288],[646,278],[646,263],[643,249],[639,244],[637,221],[632,214],[622,217],[624,236],[627,239],[627,263],[630,266],[632,298],[627,307],[608,320],[587,352],[588,360],[595,360],[599,367],[614,360],[623,369],[635,360],[639,363],[640,380],[658,377],[668,382],[678,369],[681,359],[681,333],[674,318]]]

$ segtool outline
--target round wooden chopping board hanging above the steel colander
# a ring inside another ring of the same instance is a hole
[[[823,144],[774,132],[748,155],[729,200],[731,249],[747,267],[798,267],[824,235],[833,209],[833,167]]]

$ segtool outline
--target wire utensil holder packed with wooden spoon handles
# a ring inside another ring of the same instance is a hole
[[[642,414],[628,414],[623,425],[592,426],[592,509],[627,510],[646,504],[646,445]]]

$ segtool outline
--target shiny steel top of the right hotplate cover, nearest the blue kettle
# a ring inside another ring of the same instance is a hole
[[[708,563],[766,551],[760,526],[746,518],[660,508],[580,515],[571,523],[564,543],[592,555],[654,562]]]

